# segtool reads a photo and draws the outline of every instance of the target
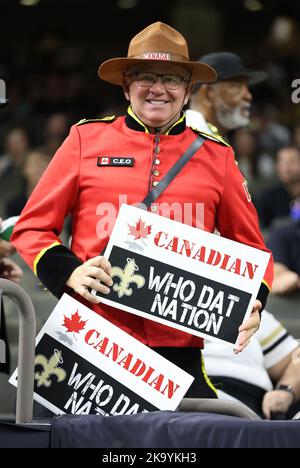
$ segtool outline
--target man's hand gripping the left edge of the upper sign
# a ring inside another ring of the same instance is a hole
[[[109,294],[110,289],[107,286],[113,285],[113,280],[111,276],[109,276],[110,270],[111,264],[106,258],[101,256],[91,258],[73,271],[66,285],[74,289],[74,291],[84,297],[84,299],[87,299],[93,304],[99,304],[100,298],[98,296],[93,296],[89,289],[95,289],[103,294]],[[99,281],[101,281],[101,283]]]

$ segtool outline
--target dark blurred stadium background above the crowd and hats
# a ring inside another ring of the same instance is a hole
[[[71,123],[123,112],[121,89],[102,83],[97,68],[105,59],[126,56],[129,40],[158,20],[185,35],[192,59],[227,49],[240,53],[249,67],[267,70],[268,82],[254,92],[255,105],[272,102],[290,127],[298,120],[298,106],[291,103],[291,82],[300,77],[296,0],[20,3],[26,1],[0,0],[0,78],[10,99],[0,115],[0,144],[9,127],[28,126],[28,119],[35,143],[41,122],[53,112],[68,113]]]

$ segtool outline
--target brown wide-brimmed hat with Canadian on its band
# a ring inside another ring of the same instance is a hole
[[[167,24],[150,24],[130,41],[127,57],[119,57],[103,62],[98,70],[101,80],[122,85],[125,70],[141,63],[167,62],[181,65],[191,72],[191,81],[211,83],[216,81],[215,70],[201,62],[190,62],[185,38]]]

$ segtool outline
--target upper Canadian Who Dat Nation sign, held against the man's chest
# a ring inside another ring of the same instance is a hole
[[[234,346],[270,254],[123,204],[105,256],[104,304]],[[94,294],[95,291],[93,292]]]

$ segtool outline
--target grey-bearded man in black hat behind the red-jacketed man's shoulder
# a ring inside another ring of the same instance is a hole
[[[249,86],[267,78],[263,71],[250,71],[232,52],[203,55],[199,62],[212,66],[218,75],[216,83],[196,84],[186,111],[187,125],[222,137],[250,120],[252,94]]]

